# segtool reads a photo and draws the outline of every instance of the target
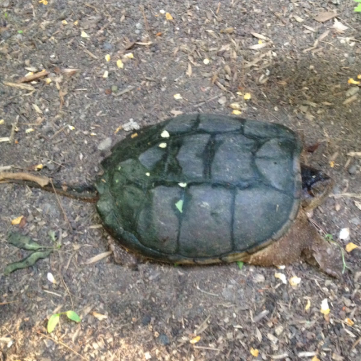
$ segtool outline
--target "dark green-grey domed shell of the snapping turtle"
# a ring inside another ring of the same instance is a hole
[[[97,210],[126,248],[161,261],[234,261],[285,234],[301,196],[285,126],[181,115],[127,136],[102,162]]]

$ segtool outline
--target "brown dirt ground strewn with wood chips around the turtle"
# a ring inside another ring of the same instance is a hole
[[[342,249],[360,247],[360,153],[349,154],[361,151],[360,88],[349,83],[361,74],[354,5],[1,0],[0,170],[92,184],[134,122],[231,114],[236,103],[244,118],[303,135],[309,164],[335,179],[313,221]],[[360,248],[345,251],[340,280],[304,263],[130,268],[108,255],[87,264],[109,250],[108,236],[93,204],[60,200],[0,185],[0,360],[361,360]],[[349,239],[339,239],[344,228]],[[61,248],[5,277],[28,254],[6,242],[8,230],[43,245],[54,232]],[[48,334],[48,318],[67,310],[82,321],[63,315]]]

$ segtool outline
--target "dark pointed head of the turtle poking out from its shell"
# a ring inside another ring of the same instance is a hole
[[[308,211],[320,205],[330,194],[334,182],[321,170],[301,165],[302,206]]]

